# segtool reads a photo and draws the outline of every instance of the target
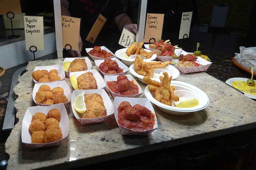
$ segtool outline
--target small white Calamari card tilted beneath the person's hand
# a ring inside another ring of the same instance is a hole
[[[125,48],[128,48],[135,41],[136,41],[136,35],[124,28],[118,44],[120,44]]]

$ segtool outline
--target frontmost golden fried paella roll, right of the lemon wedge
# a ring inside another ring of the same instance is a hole
[[[83,115],[83,119],[103,117],[107,115],[103,99],[99,94],[86,94],[84,97],[86,112]]]

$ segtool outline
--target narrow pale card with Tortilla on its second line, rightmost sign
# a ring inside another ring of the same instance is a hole
[[[189,38],[191,19],[192,19],[192,12],[182,13],[179,39]]]

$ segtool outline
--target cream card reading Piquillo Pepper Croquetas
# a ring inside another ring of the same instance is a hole
[[[44,50],[44,22],[43,17],[23,16],[26,50],[36,46],[37,50]]]

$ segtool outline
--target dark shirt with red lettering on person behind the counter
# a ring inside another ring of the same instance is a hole
[[[124,13],[120,1],[114,0],[68,0],[71,17],[81,19],[81,38],[85,39],[99,14],[113,20]]]

